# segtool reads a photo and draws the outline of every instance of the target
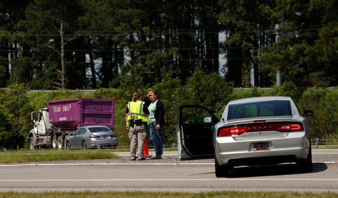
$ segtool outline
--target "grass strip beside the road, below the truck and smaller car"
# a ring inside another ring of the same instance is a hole
[[[115,149],[3,151],[0,163],[118,158],[113,151]]]

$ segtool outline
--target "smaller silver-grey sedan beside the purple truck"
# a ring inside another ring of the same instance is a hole
[[[117,147],[117,135],[106,126],[80,127],[66,141],[66,148]]]

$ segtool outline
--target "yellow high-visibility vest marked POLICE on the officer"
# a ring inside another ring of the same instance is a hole
[[[127,120],[127,127],[130,125],[130,121],[132,120],[141,120],[144,123],[149,125],[149,120],[146,114],[143,112],[143,105],[144,102],[137,100],[135,102],[128,103],[128,120]]]

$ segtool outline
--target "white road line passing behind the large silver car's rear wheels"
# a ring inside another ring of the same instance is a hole
[[[313,162],[325,164],[338,164],[337,162]],[[7,166],[93,166],[93,165],[214,165],[215,163],[88,163],[88,164],[3,164],[0,167]]]

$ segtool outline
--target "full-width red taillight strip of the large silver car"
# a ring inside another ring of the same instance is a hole
[[[244,132],[266,132],[266,131],[278,131],[278,132],[299,132],[303,131],[303,125],[301,123],[264,123],[258,125],[243,125],[225,127],[218,130],[217,136],[237,136]]]

